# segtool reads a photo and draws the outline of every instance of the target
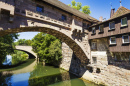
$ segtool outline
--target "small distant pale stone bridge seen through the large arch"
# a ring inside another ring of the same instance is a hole
[[[32,51],[32,46],[15,46],[15,50],[24,51],[29,54],[29,58],[37,58],[37,54]]]

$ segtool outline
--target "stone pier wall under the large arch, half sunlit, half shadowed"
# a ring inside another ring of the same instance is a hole
[[[83,68],[81,67],[81,61],[73,53],[72,49],[65,43],[62,43],[62,61],[60,68],[63,68],[75,75],[81,75]]]

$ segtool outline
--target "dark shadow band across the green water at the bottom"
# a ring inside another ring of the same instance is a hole
[[[55,75],[48,75],[38,78],[30,78],[29,79],[29,86],[47,86],[50,84],[54,84],[61,81],[66,81],[70,79],[75,79],[74,75],[70,75],[68,72],[64,72],[62,74],[55,74]]]

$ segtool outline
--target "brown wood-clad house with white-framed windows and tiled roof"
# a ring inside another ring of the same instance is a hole
[[[99,59],[96,57],[98,53],[104,52],[106,64],[130,69],[129,12],[129,9],[121,6],[115,13],[113,12],[109,20],[99,22],[89,28],[93,63]]]

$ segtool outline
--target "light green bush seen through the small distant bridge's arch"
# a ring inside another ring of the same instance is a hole
[[[22,51],[15,50],[12,56],[12,65],[16,65],[28,59],[28,54]]]

